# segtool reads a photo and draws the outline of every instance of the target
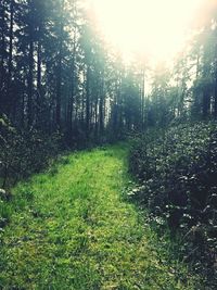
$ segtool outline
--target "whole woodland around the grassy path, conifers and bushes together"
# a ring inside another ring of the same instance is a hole
[[[0,0],[1,186],[61,150],[131,136],[130,194],[180,230],[184,260],[215,280],[216,15],[173,66],[153,67],[145,54],[126,64],[86,1]]]

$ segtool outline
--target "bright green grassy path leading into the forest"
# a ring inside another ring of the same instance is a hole
[[[194,289],[159,263],[153,234],[122,200],[126,148],[79,152],[14,189],[0,289]]]

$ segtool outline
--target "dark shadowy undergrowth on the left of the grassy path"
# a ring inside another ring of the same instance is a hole
[[[0,118],[1,187],[29,176],[48,165],[61,147],[59,133],[48,136],[36,129],[18,131],[7,116]]]

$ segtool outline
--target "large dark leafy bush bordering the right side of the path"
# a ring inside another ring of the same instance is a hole
[[[137,138],[129,157],[139,186],[130,192],[158,223],[181,234],[186,261],[215,277],[217,266],[217,125],[199,123]],[[163,218],[163,219],[162,219]],[[217,281],[215,281],[217,282]]]

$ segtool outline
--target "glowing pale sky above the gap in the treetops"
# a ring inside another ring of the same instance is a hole
[[[202,4],[217,0],[92,0],[108,42],[131,53],[168,61],[182,48]]]

